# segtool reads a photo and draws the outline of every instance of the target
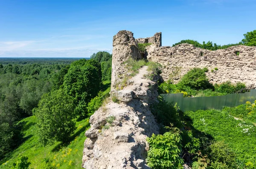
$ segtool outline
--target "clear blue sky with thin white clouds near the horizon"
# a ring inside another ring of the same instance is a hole
[[[90,57],[120,30],[224,45],[256,29],[256,0],[0,0],[0,57]]]

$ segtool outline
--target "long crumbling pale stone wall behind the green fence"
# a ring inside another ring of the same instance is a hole
[[[256,84],[256,47],[238,45],[209,51],[180,44],[175,47],[149,46],[146,50],[148,60],[163,65],[161,75],[164,80],[174,78],[174,82],[177,82],[191,68],[198,67],[209,69],[207,76],[213,84],[228,80],[244,82],[247,86]]]

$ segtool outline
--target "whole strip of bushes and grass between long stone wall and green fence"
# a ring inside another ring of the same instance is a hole
[[[230,81],[214,86],[209,83],[205,72],[208,69],[193,68],[189,70],[177,84],[172,84],[171,81],[164,82],[159,85],[159,93],[183,93],[184,96],[223,96],[236,92],[244,92],[246,86],[244,83],[237,82],[236,84]]]

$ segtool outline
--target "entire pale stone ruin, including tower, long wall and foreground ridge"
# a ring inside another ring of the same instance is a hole
[[[147,70],[143,67],[130,79],[130,85],[122,90],[115,87],[127,73],[124,62],[129,58],[143,59],[138,43],[152,43],[146,47],[144,57],[163,65],[164,80],[178,82],[187,71],[198,67],[209,69],[207,76],[212,83],[228,80],[244,82],[247,86],[256,83],[256,47],[238,45],[217,51],[189,44],[162,47],[161,33],[134,39],[131,31],[119,31],[113,37],[111,95],[120,103],[109,99],[90,117],[91,127],[85,132],[83,168],[149,169],[145,162],[148,150],[145,139],[159,132],[149,108],[157,101],[157,83],[144,78]],[[111,124],[110,117],[113,117]]]

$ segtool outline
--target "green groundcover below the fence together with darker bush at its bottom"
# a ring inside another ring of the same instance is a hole
[[[185,115],[195,130],[217,141],[208,152],[212,168],[225,165],[228,169],[238,168],[240,163],[240,168],[245,168],[246,163],[256,163],[256,127],[252,123],[236,120],[226,111],[218,110],[188,111]]]

